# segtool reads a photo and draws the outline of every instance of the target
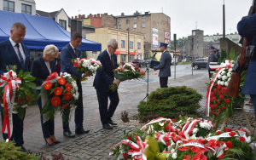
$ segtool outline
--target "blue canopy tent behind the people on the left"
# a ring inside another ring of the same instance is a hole
[[[29,49],[44,49],[48,44],[63,49],[70,42],[70,32],[61,28],[52,18],[0,10],[0,21],[0,41],[9,38],[10,28],[15,22],[21,22],[26,26],[23,43]],[[102,44],[83,38],[79,49],[101,51]]]

